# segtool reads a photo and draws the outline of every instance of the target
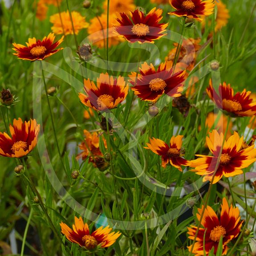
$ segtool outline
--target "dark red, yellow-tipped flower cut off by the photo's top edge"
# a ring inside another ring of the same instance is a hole
[[[170,4],[176,11],[168,14],[178,17],[186,16],[199,21],[203,20],[200,16],[211,15],[215,5],[213,0],[170,0]]]

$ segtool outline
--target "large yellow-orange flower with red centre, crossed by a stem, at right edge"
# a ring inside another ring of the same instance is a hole
[[[213,130],[206,138],[206,143],[212,156],[196,154],[199,158],[191,160],[191,167],[198,175],[203,176],[203,181],[217,183],[222,176],[232,177],[243,173],[243,168],[248,167],[256,161],[256,149],[254,145],[242,149],[243,136],[239,138],[238,133],[224,140],[223,133]],[[223,147],[222,147],[223,145]]]

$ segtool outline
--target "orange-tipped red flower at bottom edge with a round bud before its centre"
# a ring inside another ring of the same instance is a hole
[[[88,224],[84,223],[81,217],[79,219],[75,217],[73,229],[62,222],[60,225],[61,232],[70,242],[79,244],[89,251],[95,251],[97,248],[110,247],[121,236],[119,231],[111,232],[112,228],[109,228],[109,226],[105,228],[100,227],[90,234]]]

